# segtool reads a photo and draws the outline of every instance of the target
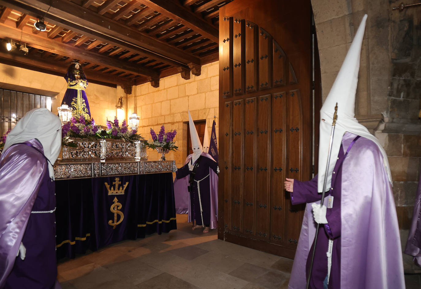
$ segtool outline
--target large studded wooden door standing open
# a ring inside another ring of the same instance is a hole
[[[293,258],[304,205],[283,181],[312,177],[310,1],[234,0],[219,19],[218,238]]]

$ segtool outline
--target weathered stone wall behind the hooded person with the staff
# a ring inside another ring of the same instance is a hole
[[[355,114],[384,145],[406,244],[421,173],[421,7],[392,11],[396,0],[312,1],[320,53],[323,99],[346,55],[362,16],[362,43]],[[413,272],[404,254],[405,272]],[[419,269],[419,268],[418,268]]]

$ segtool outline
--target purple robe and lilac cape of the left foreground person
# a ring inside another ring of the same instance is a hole
[[[42,145],[35,139],[25,143],[11,146],[0,158],[0,288],[61,288],[55,214],[31,213],[55,209],[54,182]],[[16,257],[21,242],[24,260]]]

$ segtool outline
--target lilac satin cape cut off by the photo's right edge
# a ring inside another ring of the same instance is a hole
[[[421,267],[421,175],[420,181],[418,182],[414,213],[408,241],[406,242],[405,254],[413,256],[415,265]]]

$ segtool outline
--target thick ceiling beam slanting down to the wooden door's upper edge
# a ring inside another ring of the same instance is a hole
[[[178,5],[177,1],[172,0],[136,0],[156,11],[167,15],[169,18],[184,24],[187,27],[195,30],[197,33],[208,37],[214,42],[219,41],[218,28],[214,27],[201,16],[189,11],[183,6]]]

